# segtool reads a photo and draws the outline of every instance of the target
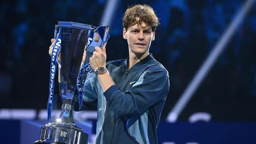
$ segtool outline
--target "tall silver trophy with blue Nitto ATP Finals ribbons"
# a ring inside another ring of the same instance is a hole
[[[48,124],[40,129],[39,140],[34,144],[87,144],[89,135],[76,126],[73,118],[74,106],[82,106],[82,86],[93,73],[89,59],[95,46],[108,41],[109,26],[92,26],[76,22],[58,22],[55,26],[56,39],[51,59],[50,86],[48,99]],[[60,53],[60,59],[58,59]],[[49,122],[53,107],[54,77],[56,66],[59,68],[60,96],[62,112],[54,121]],[[78,95],[75,94],[76,89]]]

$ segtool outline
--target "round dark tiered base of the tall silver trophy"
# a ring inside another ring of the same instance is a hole
[[[88,144],[89,135],[74,124],[48,123],[34,144]]]

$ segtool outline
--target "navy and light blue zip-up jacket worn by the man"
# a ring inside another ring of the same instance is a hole
[[[151,54],[130,70],[127,60],[106,64],[115,83],[106,92],[95,74],[84,84],[83,104],[98,105],[96,144],[158,143],[156,129],[169,92],[168,72]]]

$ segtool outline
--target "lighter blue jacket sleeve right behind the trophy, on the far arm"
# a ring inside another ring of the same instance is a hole
[[[80,110],[92,110],[97,108],[97,102],[98,102],[98,96],[95,90],[95,74],[92,74],[92,76],[84,82],[83,86],[83,102],[82,102],[82,108]],[[79,103],[78,101],[74,105],[75,111],[79,110]]]

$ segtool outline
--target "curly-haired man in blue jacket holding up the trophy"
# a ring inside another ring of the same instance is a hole
[[[158,143],[156,129],[169,92],[167,70],[149,54],[158,24],[150,6],[135,5],[123,17],[129,57],[106,63],[105,46],[95,47],[83,104],[98,102],[96,144]]]

